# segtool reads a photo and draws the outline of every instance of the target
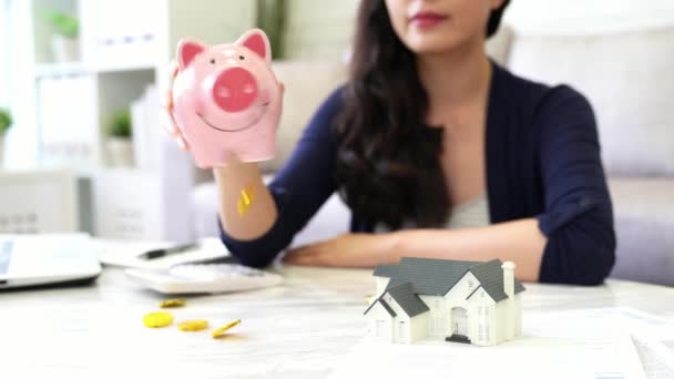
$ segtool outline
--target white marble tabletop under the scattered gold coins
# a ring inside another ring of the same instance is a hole
[[[286,267],[283,286],[188,297],[176,321],[213,326],[241,318],[232,335],[141,319],[162,296],[105,268],[95,285],[0,293],[0,376],[58,378],[323,378],[366,332],[370,270]],[[674,288],[611,280],[601,287],[528,285],[528,310],[629,306],[674,317]],[[527,325],[524,322],[524,328]],[[7,372],[17,370],[14,376]]]

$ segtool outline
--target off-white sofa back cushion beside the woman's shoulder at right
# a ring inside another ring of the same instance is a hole
[[[535,81],[571,84],[589,98],[609,173],[674,175],[674,25],[518,33],[509,68]]]

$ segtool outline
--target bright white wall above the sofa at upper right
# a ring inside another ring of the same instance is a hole
[[[674,0],[512,0],[506,22],[518,31],[603,32],[674,23]]]

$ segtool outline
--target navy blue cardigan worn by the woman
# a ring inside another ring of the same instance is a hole
[[[541,281],[600,284],[615,260],[615,234],[592,107],[569,86],[549,88],[493,68],[486,136],[491,223],[538,219],[548,237]],[[268,265],[337,190],[331,120],[341,93],[336,90],[318,109],[269,184],[278,207],[272,229],[246,242],[222,232],[243,264]],[[351,217],[350,229],[372,226]]]

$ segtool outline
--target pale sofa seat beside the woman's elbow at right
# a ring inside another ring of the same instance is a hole
[[[674,178],[609,181],[617,236],[613,277],[674,286]]]

